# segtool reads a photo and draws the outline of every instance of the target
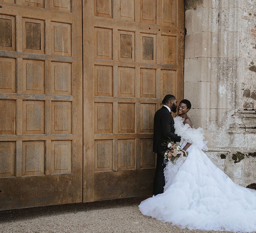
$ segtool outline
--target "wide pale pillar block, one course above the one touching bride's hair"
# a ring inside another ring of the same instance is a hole
[[[210,58],[186,59],[184,62],[184,81],[210,82]]]

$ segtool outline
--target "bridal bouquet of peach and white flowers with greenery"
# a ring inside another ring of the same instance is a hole
[[[176,164],[176,160],[181,156],[183,157],[183,152],[185,156],[187,156],[188,152],[181,149],[181,145],[179,142],[173,142],[171,139],[168,139],[163,143],[164,151],[163,156],[164,159]]]

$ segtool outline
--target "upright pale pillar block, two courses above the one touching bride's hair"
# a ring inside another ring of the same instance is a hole
[[[211,56],[211,33],[201,32],[195,34],[195,57]]]

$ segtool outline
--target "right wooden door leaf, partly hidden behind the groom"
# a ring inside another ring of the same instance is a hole
[[[184,1],[83,1],[84,201],[152,194],[153,117],[183,97]]]

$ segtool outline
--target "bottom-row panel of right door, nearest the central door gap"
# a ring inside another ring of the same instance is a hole
[[[113,170],[113,140],[95,140],[95,171]]]

